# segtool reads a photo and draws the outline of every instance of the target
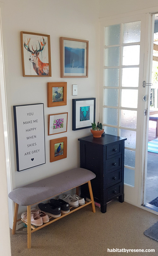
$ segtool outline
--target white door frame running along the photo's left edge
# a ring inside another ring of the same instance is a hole
[[[8,125],[7,125],[7,109],[5,101],[5,79],[4,79],[4,62],[3,62],[3,43],[2,43],[2,27],[1,27],[1,7],[0,7],[0,163],[1,163],[1,204],[3,205],[3,211],[0,213],[1,218],[1,230],[0,240],[3,241],[0,246],[0,254],[4,256],[11,256],[10,247],[10,233],[9,233],[9,207],[8,207],[8,191],[7,183],[11,183],[11,176],[7,179],[7,169],[9,163],[7,157],[9,153],[9,139],[8,139]],[[9,158],[10,159],[10,158]],[[10,162],[10,161],[9,161]],[[10,171],[10,169],[9,169]],[[9,172],[10,173],[10,172]],[[13,205],[12,205],[13,215]]]

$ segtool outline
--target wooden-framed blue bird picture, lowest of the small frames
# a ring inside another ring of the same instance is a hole
[[[50,162],[67,158],[67,137],[50,140]]]

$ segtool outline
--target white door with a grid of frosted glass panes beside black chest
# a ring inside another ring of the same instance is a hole
[[[100,22],[99,119],[106,133],[127,138],[124,191],[133,205],[143,202],[151,20],[141,14]]]

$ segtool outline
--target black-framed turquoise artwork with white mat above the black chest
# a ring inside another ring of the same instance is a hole
[[[96,98],[80,98],[72,100],[72,130],[92,127],[95,122]]]

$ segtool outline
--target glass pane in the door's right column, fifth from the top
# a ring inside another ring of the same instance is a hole
[[[136,129],[137,128],[137,111],[121,110],[121,126]]]

